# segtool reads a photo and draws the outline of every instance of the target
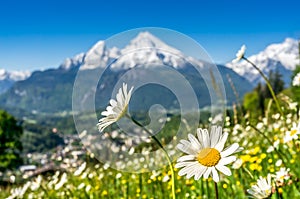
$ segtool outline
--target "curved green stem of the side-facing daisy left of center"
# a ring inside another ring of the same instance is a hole
[[[174,167],[172,165],[172,161],[171,158],[168,154],[168,152],[165,150],[165,148],[163,147],[163,145],[161,144],[161,142],[155,137],[155,135],[153,135],[147,128],[145,128],[142,124],[140,124],[138,121],[136,121],[134,118],[130,117],[128,114],[125,115],[127,118],[129,118],[130,120],[133,121],[133,123],[135,123],[136,125],[138,125],[139,127],[141,127],[144,131],[146,131],[146,133],[158,144],[158,146],[162,149],[163,153],[165,154],[167,160],[168,160],[168,164],[171,170],[171,179],[172,179],[172,198],[176,199],[176,193],[175,193],[175,172],[174,172]]]

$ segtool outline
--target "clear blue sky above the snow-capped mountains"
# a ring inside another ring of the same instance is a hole
[[[98,40],[132,28],[163,27],[199,42],[216,63],[286,37],[300,38],[300,2],[11,0],[0,3],[0,68],[57,67]]]

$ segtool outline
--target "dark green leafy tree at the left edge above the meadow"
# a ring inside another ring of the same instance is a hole
[[[0,171],[22,164],[22,133],[23,129],[17,120],[6,111],[0,110]]]

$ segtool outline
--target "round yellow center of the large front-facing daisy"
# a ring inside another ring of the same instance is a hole
[[[204,148],[197,156],[198,162],[207,167],[216,166],[220,159],[220,152],[214,148]]]

